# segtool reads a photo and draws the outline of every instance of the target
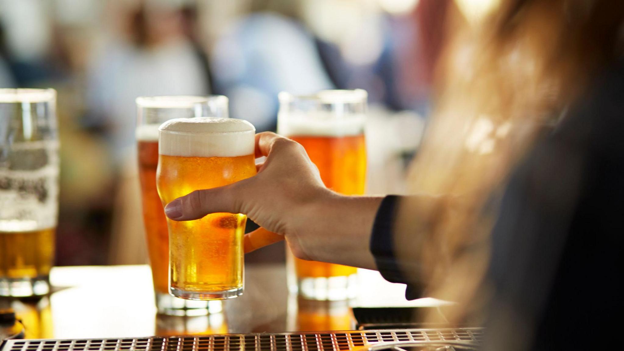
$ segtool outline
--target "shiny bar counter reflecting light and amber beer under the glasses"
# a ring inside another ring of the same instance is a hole
[[[54,267],[49,297],[16,301],[13,307],[27,339],[72,339],[349,330],[355,327],[353,306],[444,304],[435,299],[407,301],[404,285],[386,282],[371,270],[359,270],[354,300],[298,301],[288,295],[283,264],[245,268],[245,293],[223,301],[223,312],[208,316],[157,315],[148,265]]]

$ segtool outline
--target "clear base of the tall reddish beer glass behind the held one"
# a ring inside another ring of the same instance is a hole
[[[223,311],[221,301],[183,300],[162,292],[156,293],[156,308],[158,314],[180,317],[218,314]]]

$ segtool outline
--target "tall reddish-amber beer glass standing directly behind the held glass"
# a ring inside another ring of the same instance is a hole
[[[173,118],[228,117],[225,96],[153,96],[137,98],[137,147],[145,237],[159,314],[202,315],[220,312],[220,305],[177,299],[169,294],[167,220],[156,190],[158,127]]]

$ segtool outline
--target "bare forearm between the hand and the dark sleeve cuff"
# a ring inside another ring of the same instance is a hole
[[[370,250],[375,215],[383,197],[330,194],[311,205],[311,259],[377,269]]]

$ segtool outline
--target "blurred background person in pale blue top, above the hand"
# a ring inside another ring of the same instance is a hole
[[[215,89],[230,99],[230,115],[257,131],[274,131],[277,94],[312,94],[334,86],[314,38],[293,17],[300,1],[255,0],[249,13],[218,39],[212,52]]]

